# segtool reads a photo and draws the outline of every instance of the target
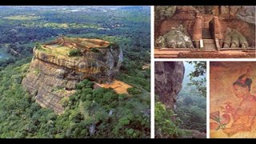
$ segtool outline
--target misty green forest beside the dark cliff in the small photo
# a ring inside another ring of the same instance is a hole
[[[155,104],[156,138],[206,138],[206,62],[184,62],[184,66],[174,110],[158,99]]]

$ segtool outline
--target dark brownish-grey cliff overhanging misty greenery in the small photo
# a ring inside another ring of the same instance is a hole
[[[183,62],[155,62],[154,90],[166,107],[174,109],[177,95],[182,90],[185,67]]]

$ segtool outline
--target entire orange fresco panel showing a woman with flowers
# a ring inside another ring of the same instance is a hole
[[[256,62],[210,62],[210,138],[256,138]]]

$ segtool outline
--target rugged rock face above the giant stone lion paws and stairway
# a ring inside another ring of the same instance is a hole
[[[193,8],[194,10],[193,10]],[[225,18],[238,18],[244,22],[255,24],[254,6],[155,6],[155,19],[161,21],[171,18],[174,14],[182,14],[190,19],[194,13],[214,14]]]

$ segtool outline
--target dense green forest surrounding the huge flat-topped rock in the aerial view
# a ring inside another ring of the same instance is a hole
[[[94,90],[84,80],[42,108],[22,88],[36,42],[58,36],[101,38],[123,50],[117,79],[129,94]],[[0,6],[0,138],[150,138],[149,6]]]

